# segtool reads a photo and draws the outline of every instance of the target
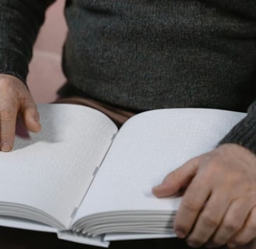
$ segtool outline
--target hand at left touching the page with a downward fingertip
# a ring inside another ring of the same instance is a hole
[[[27,86],[12,75],[0,74],[0,150],[2,151],[7,152],[12,149],[18,116],[30,132],[40,131],[37,107]],[[21,122],[17,124],[19,123]]]

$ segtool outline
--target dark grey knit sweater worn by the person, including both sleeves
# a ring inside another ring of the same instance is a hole
[[[0,1],[0,72],[26,82],[52,2]],[[256,153],[255,0],[67,0],[65,14],[68,83],[60,94],[137,111],[251,105],[222,142]]]

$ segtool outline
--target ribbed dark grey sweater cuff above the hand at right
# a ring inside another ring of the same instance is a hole
[[[251,103],[247,116],[231,129],[219,145],[229,142],[244,146],[256,154],[256,101]]]

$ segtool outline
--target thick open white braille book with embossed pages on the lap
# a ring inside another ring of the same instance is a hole
[[[57,233],[108,246],[111,240],[173,237],[180,198],[151,188],[190,158],[215,148],[245,114],[161,109],[118,131],[98,110],[41,104],[42,130],[0,152],[0,226]]]

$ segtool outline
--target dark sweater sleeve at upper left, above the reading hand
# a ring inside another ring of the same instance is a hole
[[[28,64],[44,12],[54,0],[0,1],[0,73],[26,82]]]

